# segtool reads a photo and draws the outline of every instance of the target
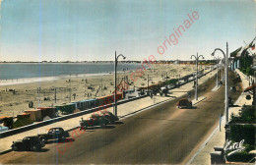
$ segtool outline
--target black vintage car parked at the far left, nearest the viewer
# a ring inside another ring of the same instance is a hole
[[[40,150],[41,147],[44,146],[44,141],[39,139],[38,137],[26,137],[23,139],[19,139],[17,141],[13,141],[12,149],[14,151],[17,150]]]

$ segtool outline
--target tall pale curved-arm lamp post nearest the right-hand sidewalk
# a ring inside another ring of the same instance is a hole
[[[215,55],[215,52],[217,50],[220,50],[223,54],[224,54],[224,51],[220,48],[216,48],[215,51],[212,53],[212,56]],[[228,122],[228,91],[227,91],[227,60],[228,60],[228,44],[226,42],[226,53],[224,54],[224,113],[225,113],[225,123]]]

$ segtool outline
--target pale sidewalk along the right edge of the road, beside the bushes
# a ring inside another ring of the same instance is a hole
[[[237,74],[239,74],[243,88],[246,88],[249,86],[249,82],[246,79],[246,77],[239,71],[235,70]],[[243,93],[238,97],[235,105],[238,105],[238,107],[231,107],[229,108],[228,118],[230,119],[230,115],[238,114],[239,110],[241,109],[241,106],[244,104],[251,104],[252,100],[247,100],[245,98],[246,95],[243,95]],[[215,129],[213,134],[201,145],[197,153],[190,159],[190,161],[187,164],[211,164],[211,156],[210,153],[214,151],[215,146],[224,146],[224,124],[225,124],[225,116],[222,118],[221,123],[221,132],[220,127]]]

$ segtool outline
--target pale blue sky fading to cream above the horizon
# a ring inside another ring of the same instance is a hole
[[[256,35],[255,0],[0,1],[0,61],[113,61],[115,51],[126,60],[213,59],[215,48],[228,42],[230,53]],[[199,18],[162,52],[195,11]]]

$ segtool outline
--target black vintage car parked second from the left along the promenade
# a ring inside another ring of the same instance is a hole
[[[64,141],[66,138],[70,137],[68,132],[65,132],[62,128],[51,128],[47,134],[38,134],[38,138],[44,139],[58,139],[59,141]]]

